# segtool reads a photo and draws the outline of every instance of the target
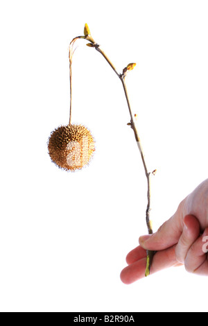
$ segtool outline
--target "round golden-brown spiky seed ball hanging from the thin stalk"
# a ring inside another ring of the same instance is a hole
[[[75,171],[89,163],[95,151],[94,138],[81,125],[60,126],[48,141],[51,160],[64,170]]]

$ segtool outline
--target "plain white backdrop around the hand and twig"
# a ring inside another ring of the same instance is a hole
[[[69,121],[72,38],[85,23],[119,71],[153,180],[153,227],[207,178],[207,1],[3,1],[1,311],[207,311],[207,277],[183,267],[125,285],[125,255],[146,234],[146,178],[119,78],[79,42],[72,122],[96,139],[76,173],[47,153]]]

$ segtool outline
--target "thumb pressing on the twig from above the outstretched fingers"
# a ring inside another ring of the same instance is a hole
[[[182,230],[182,218],[176,212],[157,232],[140,237],[139,244],[146,250],[164,250],[178,242]]]

